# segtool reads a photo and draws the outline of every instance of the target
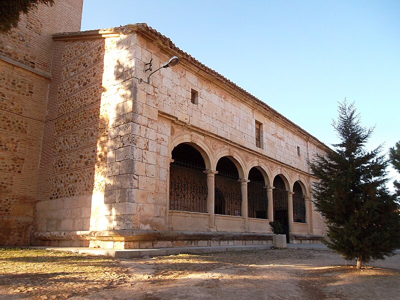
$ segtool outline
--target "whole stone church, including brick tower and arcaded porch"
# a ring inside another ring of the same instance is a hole
[[[326,145],[145,23],[79,31],[82,1],[0,35],[0,245],[323,236],[307,159]]]

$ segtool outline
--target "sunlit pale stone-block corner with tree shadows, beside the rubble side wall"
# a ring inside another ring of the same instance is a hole
[[[132,168],[136,170],[134,163],[142,161],[142,148],[147,147],[147,143],[138,138],[131,127],[134,119],[140,117],[132,112],[140,113],[142,107],[139,107],[141,103],[134,101],[137,80],[132,77],[135,52],[134,45],[125,42],[127,38],[123,36],[116,41],[108,38],[105,45],[103,86],[106,91],[101,101],[109,107],[110,133],[104,198],[98,201],[99,211],[92,204],[90,228],[96,230],[138,229],[137,204],[132,201],[131,193],[138,188],[138,176],[133,174]],[[103,214],[102,207],[110,209],[110,212]]]

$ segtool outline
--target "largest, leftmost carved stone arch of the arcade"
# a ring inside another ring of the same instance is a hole
[[[169,157],[171,158],[172,150],[181,143],[187,143],[191,145],[193,148],[195,148],[197,151],[200,152],[201,156],[204,159],[205,163],[205,168],[206,169],[212,169],[212,150],[208,146],[208,144],[204,141],[202,136],[191,133],[191,132],[179,132],[173,137],[170,138],[169,142]],[[214,166],[215,167],[215,166]]]

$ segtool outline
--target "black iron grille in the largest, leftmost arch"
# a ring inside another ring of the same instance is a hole
[[[169,209],[207,212],[207,182],[204,168],[183,161],[169,166]]]

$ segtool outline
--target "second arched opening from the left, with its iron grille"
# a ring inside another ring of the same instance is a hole
[[[216,164],[215,210],[216,214],[241,215],[241,191],[237,168],[227,157],[221,157]]]

